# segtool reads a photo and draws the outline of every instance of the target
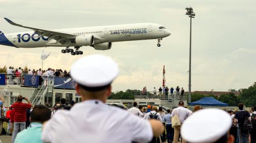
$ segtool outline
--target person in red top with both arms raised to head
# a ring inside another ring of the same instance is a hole
[[[28,104],[22,103],[22,100],[25,99]],[[18,133],[18,130],[24,130],[26,128],[26,110],[28,108],[31,108],[31,102],[26,97],[22,97],[22,95],[19,95],[17,98],[17,101],[12,104],[12,108],[14,109],[14,131],[12,135],[12,142],[15,141],[16,135]]]

